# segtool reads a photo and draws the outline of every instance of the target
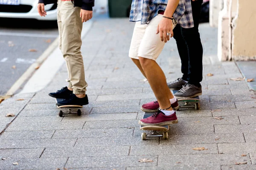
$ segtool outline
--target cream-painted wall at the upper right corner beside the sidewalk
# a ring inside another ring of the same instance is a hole
[[[256,59],[256,0],[238,0],[233,25],[232,59]]]

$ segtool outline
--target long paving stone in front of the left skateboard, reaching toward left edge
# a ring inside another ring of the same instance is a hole
[[[57,129],[81,129],[84,121],[76,122],[35,122],[24,126],[24,123],[11,124],[6,131],[22,131],[22,130],[57,130]]]

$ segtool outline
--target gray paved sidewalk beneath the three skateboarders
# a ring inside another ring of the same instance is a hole
[[[128,57],[133,27],[128,19],[96,20],[84,37],[90,104],[82,116],[59,117],[55,100],[48,96],[67,85],[66,65],[43,91],[16,95],[0,104],[0,130],[4,130],[0,170],[256,169],[256,96],[246,82],[230,79],[242,77],[234,62],[218,62],[217,29],[208,24],[200,26],[201,109],[178,111],[179,123],[170,126],[168,140],[141,140],[140,105],[154,100],[154,94]],[[158,63],[168,81],[181,76],[174,40],[165,46]],[[213,76],[207,77],[209,73]],[[16,116],[5,117],[7,113]]]

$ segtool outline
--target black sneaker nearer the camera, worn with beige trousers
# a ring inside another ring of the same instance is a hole
[[[69,98],[63,99],[61,102],[56,103],[57,106],[64,106],[64,105],[88,105],[88,97],[85,95],[83,98],[77,97],[75,94],[71,94]]]

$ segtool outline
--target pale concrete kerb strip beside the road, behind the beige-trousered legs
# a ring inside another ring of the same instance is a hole
[[[89,31],[92,24],[92,20],[84,23],[81,33],[82,38]],[[52,79],[55,77],[55,74],[59,71],[64,62],[65,60],[63,59],[60,49],[58,47],[55,48],[55,50],[52,52],[52,54],[49,55],[49,57],[44,61],[40,68],[35,71],[35,74],[32,75],[32,77],[29,79],[19,94],[36,93],[41,91],[49,84],[49,82],[52,81]],[[29,76],[31,76],[31,74],[27,75],[27,78]]]

